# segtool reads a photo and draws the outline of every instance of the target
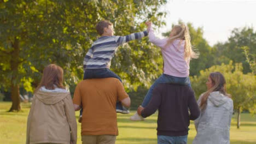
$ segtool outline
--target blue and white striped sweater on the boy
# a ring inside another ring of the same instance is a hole
[[[148,35],[147,31],[132,33],[126,36],[103,36],[98,38],[84,57],[85,69],[101,69],[109,68],[111,59],[119,45],[130,40],[141,39]]]

